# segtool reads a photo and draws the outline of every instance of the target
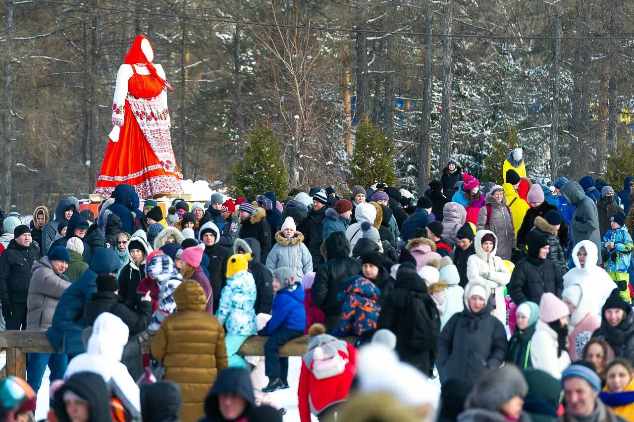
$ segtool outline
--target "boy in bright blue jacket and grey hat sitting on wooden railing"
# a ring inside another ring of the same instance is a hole
[[[295,280],[294,271],[280,267],[273,272],[272,317],[258,334],[270,336],[264,344],[264,372],[269,384],[262,392],[288,388],[288,357],[280,357],[280,347],[289,340],[304,335],[306,329],[306,308],[304,308],[304,289],[301,280]]]

